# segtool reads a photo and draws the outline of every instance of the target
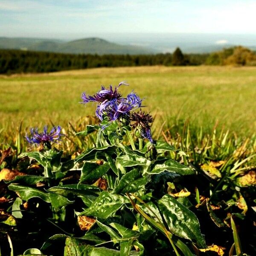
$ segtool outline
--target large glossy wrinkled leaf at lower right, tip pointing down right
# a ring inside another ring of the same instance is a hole
[[[195,240],[199,247],[206,247],[198,218],[193,212],[171,195],[164,195],[158,201],[158,206],[171,233],[182,238]]]

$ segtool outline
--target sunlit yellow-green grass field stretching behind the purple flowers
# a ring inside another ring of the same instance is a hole
[[[79,104],[83,91],[128,81],[122,92],[134,89],[155,115],[155,126],[172,127],[190,120],[209,131],[218,121],[240,136],[256,128],[256,67],[120,67],[58,73],[0,76],[0,128],[11,131],[68,121],[94,113],[95,106]]]

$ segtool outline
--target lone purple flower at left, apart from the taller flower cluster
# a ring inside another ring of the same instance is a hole
[[[43,143],[49,145],[50,142],[58,142],[60,137],[64,134],[61,134],[61,127],[53,127],[50,132],[48,132],[48,127],[47,125],[44,126],[44,131],[43,132],[38,132],[38,128],[31,128],[30,129],[30,137],[26,134],[26,140],[29,143]]]

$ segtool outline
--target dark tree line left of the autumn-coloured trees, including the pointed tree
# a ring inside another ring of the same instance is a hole
[[[97,55],[0,50],[0,73],[42,73],[95,67],[201,65],[208,54]]]

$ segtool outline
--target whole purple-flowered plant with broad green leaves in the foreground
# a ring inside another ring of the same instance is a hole
[[[82,237],[76,228],[72,234],[58,235],[67,239],[66,252],[70,251],[70,241],[77,241],[81,255],[156,255],[156,251],[152,254],[151,250],[154,243],[156,248],[164,244],[166,251],[176,256],[180,256],[180,252],[192,256],[195,244],[206,247],[198,219],[187,208],[186,201],[178,201],[168,193],[166,183],[193,175],[195,171],[170,158],[169,151],[177,151],[172,145],[153,140],[150,129],[153,117],[142,111],[143,99],[133,91],[122,96],[121,85],[128,84],[102,86],[92,96],[82,94],[81,103],[97,103],[96,116],[100,124],[87,125],[85,131],[76,134],[87,136],[96,132],[96,140],[93,148],[72,159],[61,158],[62,151],[51,145],[62,136],[59,126],[49,132],[45,127],[41,133],[31,129],[31,136],[26,135],[26,139],[29,143],[44,145],[44,150],[26,152],[20,158],[27,156],[37,161],[44,167],[44,175],[20,177],[26,186],[11,184],[9,189],[24,201],[33,198],[40,207],[48,204],[47,212],[52,212],[55,226],[62,225],[64,219],[69,223],[80,220],[79,224],[81,220],[90,220],[82,224],[81,230],[87,231]],[[131,131],[138,137],[135,142]],[[124,140],[125,135],[131,145]],[[35,188],[33,185],[38,181],[46,186]],[[74,216],[74,212],[78,216]],[[53,240],[50,243],[54,243]],[[99,247],[101,244],[104,248]],[[43,253],[46,247],[42,247]]]

